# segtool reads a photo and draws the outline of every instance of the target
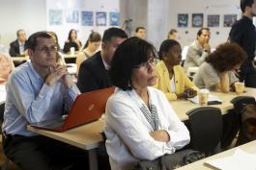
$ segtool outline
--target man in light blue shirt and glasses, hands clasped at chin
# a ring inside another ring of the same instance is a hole
[[[28,39],[31,61],[17,67],[6,85],[3,148],[25,170],[87,169],[82,150],[29,132],[27,125],[60,118],[80,93],[67,67],[56,63],[57,48],[46,32]]]

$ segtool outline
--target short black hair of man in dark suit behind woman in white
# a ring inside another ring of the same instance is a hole
[[[112,37],[122,37],[122,38],[128,38],[128,35],[126,32],[120,28],[109,28],[104,31],[102,41],[103,42],[109,42]]]

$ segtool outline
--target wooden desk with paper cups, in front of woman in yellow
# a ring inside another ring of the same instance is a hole
[[[240,96],[253,96],[256,97],[256,88],[245,88],[244,93],[240,94]],[[228,109],[233,109],[233,104],[230,103],[230,101],[239,96],[235,92],[229,92],[229,93],[221,93],[221,92],[210,92],[210,94],[213,94],[217,96],[219,99],[221,99],[223,102],[221,105],[211,105],[212,107],[221,109],[222,113],[227,113]],[[188,116],[185,114],[190,109],[199,108],[202,106],[199,106],[198,104],[193,104],[187,100],[176,100],[171,101],[170,104],[172,105],[173,109],[176,111],[177,115],[181,120],[187,120]]]

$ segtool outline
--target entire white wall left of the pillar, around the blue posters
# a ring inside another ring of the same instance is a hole
[[[48,23],[48,10],[61,9],[65,14],[66,10],[77,10],[79,12],[79,23],[68,24],[64,21],[61,26],[51,26]],[[85,27],[80,22],[80,12],[91,11],[107,12],[106,27]],[[59,36],[61,47],[63,47],[65,40],[67,40],[69,31],[76,29],[78,31],[78,38],[84,42],[88,38],[92,30],[100,32],[109,27],[108,12],[119,12],[119,0],[0,0],[0,20],[2,21],[0,27],[0,45],[9,48],[10,42],[16,38],[16,31],[24,29],[27,36],[38,31],[54,31]]]

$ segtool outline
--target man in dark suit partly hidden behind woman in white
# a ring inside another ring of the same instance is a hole
[[[128,35],[119,28],[109,28],[102,36],[101,51],[83,61],[78,72],[77,86],[81,92],[94,91],[112,85],[108,69],[114,52]]]

